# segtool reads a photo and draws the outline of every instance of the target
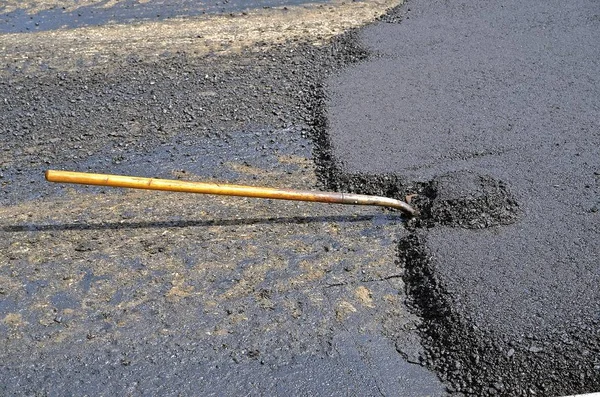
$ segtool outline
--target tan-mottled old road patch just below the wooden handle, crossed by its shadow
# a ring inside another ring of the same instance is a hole
[[[265,171],[258,183],[313,177]],[[276,333],[313,317],[317,333],[359,320],[397,334],[418,322],[389,299],[404,295],[394,249],[402,218],[376,208],[73,189],[0,208],[0,220],[1,292],[14,303],[0,308],[0,331],[11,349],[54,351],[125,331]],[[149,313],[158,317],[143,321]]]

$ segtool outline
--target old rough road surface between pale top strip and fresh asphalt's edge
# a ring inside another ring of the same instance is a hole
[[[319,82],[364,55],[342,38],[1,80],[0,394],[444,395],[414,364],[402,217],[43,181],[315,188]]]

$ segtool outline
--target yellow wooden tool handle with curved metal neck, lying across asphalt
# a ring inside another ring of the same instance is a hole
[[[387,197],[368,196],[364,194],[273,189],[268,187],[187,182],[171,179],[142,178],[125,175],[91,174],[86,172],[56,170],[46,171],[46,180],[50,182],[127,187],[133,189],[165,190],[170,192],[217,194],[224,196],[243,196],[336,204],[376,205],[381,207],[395,208],[410,216],[416,215],[416,210],[404,201]]]

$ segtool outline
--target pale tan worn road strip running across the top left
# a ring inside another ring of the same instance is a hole
[[[310,7],[256,10],[159,22],[83,27],[0,35],[4,71],[33,73],[120,64],[128,56],[156,60],[176,52],[190,56],[266,49],[288,41],[321,45],[383,15],[399,0],[335,2]]]

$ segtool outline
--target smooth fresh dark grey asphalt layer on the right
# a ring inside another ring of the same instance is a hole
[[[600,391],[599,37],[596,1],[413,0],[328,82],[324,158],[422,184],[398,252],[451,389]]]

